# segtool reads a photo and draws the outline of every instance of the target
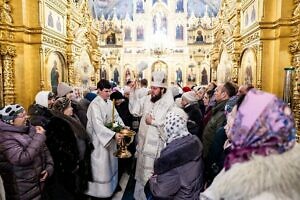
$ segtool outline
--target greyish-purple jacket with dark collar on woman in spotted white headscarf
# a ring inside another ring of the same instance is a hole
[[[154,163],[154,199],[198,200],[203,182],[202,144],[195,135],[172,141]]]

